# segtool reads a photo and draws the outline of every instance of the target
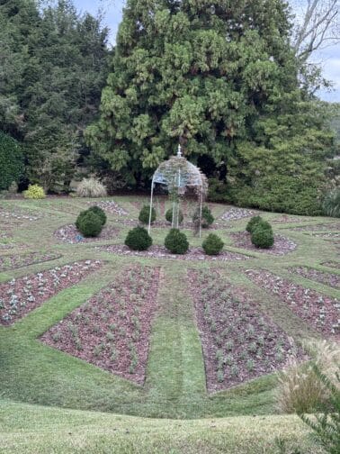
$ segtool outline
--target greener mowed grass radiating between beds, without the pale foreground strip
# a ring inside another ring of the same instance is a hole
[[[334,223],[335,220],[322,217],[306,219],[296,216],[296,223],[273,223],[275,232],[288,236],[298,244],[297,250],[282,257],[240,250],[233,246],[229,233],[244,230],[248,219],[228,222],[228,225],[220,226],[220,230],[217,231],[226,243],[225,249],[249,255],[251,259],[246,261],[189,262],[118,257],[97,250],[94,246],[122,244],[130,230],[130,227],[124,225],[122,221],[136,220],[139,213],[136,202],[143,204],[148,202],[148,198],[117,196],[114,197],[114,201],[129,212],[126,216],[108,214],[108,224],[117,227],[119,232],[112,240],[87,244],[60,243],[53,232],[67,223],[75,222],[77,213],[88,206],[88,200],[48,198],[42,201],[0,202],[0,206],[7,211],[15,211],[18,208],[29,209],[32,213],[43,216],[38,221],[20,221],[21,225],[15,220],[11,221],[14,247],[12,250],[0,250],[1,255],[43,250],[62,254],[62,258],[57,260],[0,273],[0,282],[80,259],[105,261],[103,268],[94,275],[55,295],[21,321],[11,327],[0,327],[0,395],[4,399],[28,404],[154,418],[197,419],[278,413],[274,399],[276,386],[274,374],[259,377],[242,386],[215,395],[207,393],[201,341],[186,282],[187,269],[219,268],[222,279],[246,289],[263,311],[269,314],[273,321],[294,340],[300,342],[306,338],[319,338],[318,332],[291,313],[289,307],[281,304],[278,298],[266,293],[248,280],[243,270],[264,268],[326,295],[338,296],[336,289],[291,275],[287,270],[291,266],[307,265],[330,271],[330,268],[324,267],[322,263],[336,260],[338,254],[336,242],[311,237],[306,235],[306,232],[294,232],[291,229],[301,225]],[[210,204],[210,207],[215,217],[229,208],[222,204]],[[273,221],[281,217],[281,214],[264,213],[263,216],[264,219]],[[154,228],[151,232],[154,243],[163,244],[166,232],[166,229]],[[192,232],[185,232],[192,246],[200,246],[204,236],[208,234],[203,232],[203,238],[200,240],[193,237]],[[22,244],[25,245],[24,249],[19,248]],[[152,326],[145,386],[136,386],[85,361],[49,348],[38,339],[50,326],[62,320],[77,306],[84,304],[91,295],[112,282],[124,272],[124,269],[134,263],[161,267],[161,281],[157,295],[158,310]],[[332,272],[339,273],[336,269],[332,269]],[[233,421],[237,422],[237,420]]]

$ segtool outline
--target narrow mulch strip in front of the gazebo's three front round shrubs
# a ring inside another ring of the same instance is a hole
[[[112,244],[111,246],[98,246],[99,250],[112,252],[112,254],[134,257],[148,257],[149,259],[177,259],[177,260],[210,260],[210,261],[229,261],[229,260],[246,260],[250,257],[237,252],[222,250],[218,256],[208,256],[201,248],[191,248],[186,254],[171,254],[164,246],[151,246],[148,250],[130,250],[127,246],[121,244]]]

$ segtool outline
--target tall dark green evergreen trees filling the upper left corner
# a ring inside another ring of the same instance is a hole
[[[107,75],[107,30],[71,0],[0,3],[0,130],[22,141],[27,176],[67,190]]]

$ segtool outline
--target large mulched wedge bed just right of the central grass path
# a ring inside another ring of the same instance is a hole
[[[189,270],[210,392],[240,385],[283,368],[301,350],[246,292],[216,270]]]

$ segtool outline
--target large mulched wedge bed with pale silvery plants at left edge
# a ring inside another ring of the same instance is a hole
[[[84,260],[0,284],[0,324],[13,324],[101,266],[99,260]]]

